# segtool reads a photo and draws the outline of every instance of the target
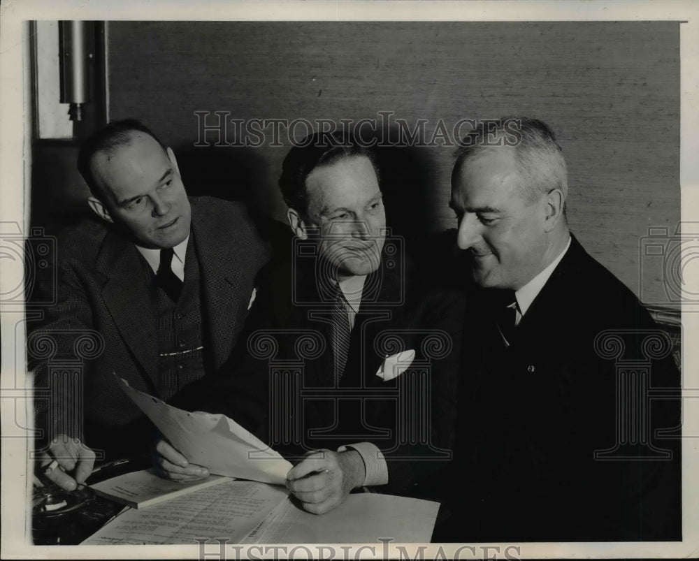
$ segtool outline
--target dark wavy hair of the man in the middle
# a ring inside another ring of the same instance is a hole
[[[364,156],[371,162],[376,179],[379,180],[379,170],[375,153],[370,148],[357,142],[356,138],[344,132],[317,132],[306,136],[300,143],[294,145],[282,163],[282,175],[279,178],[279,188],[284,202],[307,217],[308,191],[306,178],[320,166],[328,166],[343,158]]]

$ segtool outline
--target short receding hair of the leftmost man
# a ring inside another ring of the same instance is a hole
[[[87,183],[90,192],[101,201],[104,201],[106,194],[103,192],[99,182],[96,181],[94,173],[92,173],[92,159],[98,152],[112,153],[117,147],[131,144],[136,132],[147,134],[156,140],[164,151],[167,150],[167,147],[161,140],[145,124],[136,119],[122,119],[111,122],[102,129],[92,133],[80,145],[78,171],[85,183]]]

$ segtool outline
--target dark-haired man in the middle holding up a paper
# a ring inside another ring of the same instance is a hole
[[[310,136],[284,160],[280,187],[294,254],[261,282],[229,386],[202,408],[301,459],[287,486],[312,513],[362,486],[428,494],[429,474],[451,456],[459,300],[421,286],[401,240],[387,238],[365,148]],[[159,451],[173,479],[196,476],[170,446]]]

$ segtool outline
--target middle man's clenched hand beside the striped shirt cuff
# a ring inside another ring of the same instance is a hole
[[[364,461],[356,450],[309,452],[289,469],[287,489],[303,508],[323,514],[342,504],[349,491],[361,487],[366,477]]]

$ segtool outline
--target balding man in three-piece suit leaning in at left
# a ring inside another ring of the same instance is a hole
[[[85,141],[78,169],[99,221],[58,242],[57,302],[39,337],[55,342],[51,360],[76,358],[80,337],[103,350],[85,360],[82,379],[51,378],[36,365],[40,470],[73,489],[106,459],[147,450],[150,421],[117,384],[175,400],[233,349],[266,249],[245,209],[212,198],[189,200],[173,151],[143,124],[108,124]],[[31,356],[31,338],[30,338]],[[45,358],[45,357],[41,357]],[[84,428],[84,438],[82,429]]]

